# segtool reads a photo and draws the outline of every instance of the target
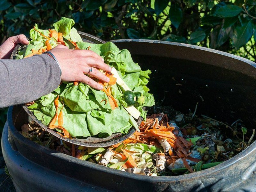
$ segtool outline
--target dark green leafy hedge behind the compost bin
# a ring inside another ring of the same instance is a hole
[[[62,16],[103,40],[143,38],[197,44],[255,60],[254,0],[1,0],[0,41]],[[0,110],[0,131],[6,109]]]

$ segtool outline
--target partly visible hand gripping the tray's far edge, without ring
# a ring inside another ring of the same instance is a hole
[[[9,37],[1,46],[0,46],[0,59],[10,59],[13,49],[17,44],[27,45],[29,41],[25,35],[17,35]]]

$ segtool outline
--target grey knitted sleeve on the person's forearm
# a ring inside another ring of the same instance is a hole
[[[0,108],[36,100],[59,84],[60,67],[48,54],[0,60]]]

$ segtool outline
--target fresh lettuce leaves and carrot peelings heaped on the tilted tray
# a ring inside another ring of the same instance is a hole
[[[15,59],[42,54],[59,44],[69,49],[90,49],[112,67],[111,73],[99,70],[110,81],[103,83],[94,79],[103,84],[101,91],[81,82],[61,82],[52,93],[29,103],[28,109],[44,125],[66,138],[108,137],[113,133],[125,134],[132,126],[138,129],[135,119],[140,116],[145,119],[147,114],[143,108],[155,104],[146,86],[151,71],[141,70],[128,50],[119,50],[111,42],[83,42],[72,28],[74,24],[74,20],[62,17],[52,25],[53,29],[42,30],[35,25],[30,30],[29,44],[18,50]]]

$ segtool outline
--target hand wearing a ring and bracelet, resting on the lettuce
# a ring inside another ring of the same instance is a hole
[[[98,69],[111,72],[111,67],[104,63],[104,59],[95,52],[90,50],[71,50],[64,45],[58,45],[50,52],[60,64],[61,81],[83,82],[98,90],[103,89],[102,84],[84,74],[89,74],[103,82],[109,82],[109,78]],[[92,71],[89,72],[91,68]]]

